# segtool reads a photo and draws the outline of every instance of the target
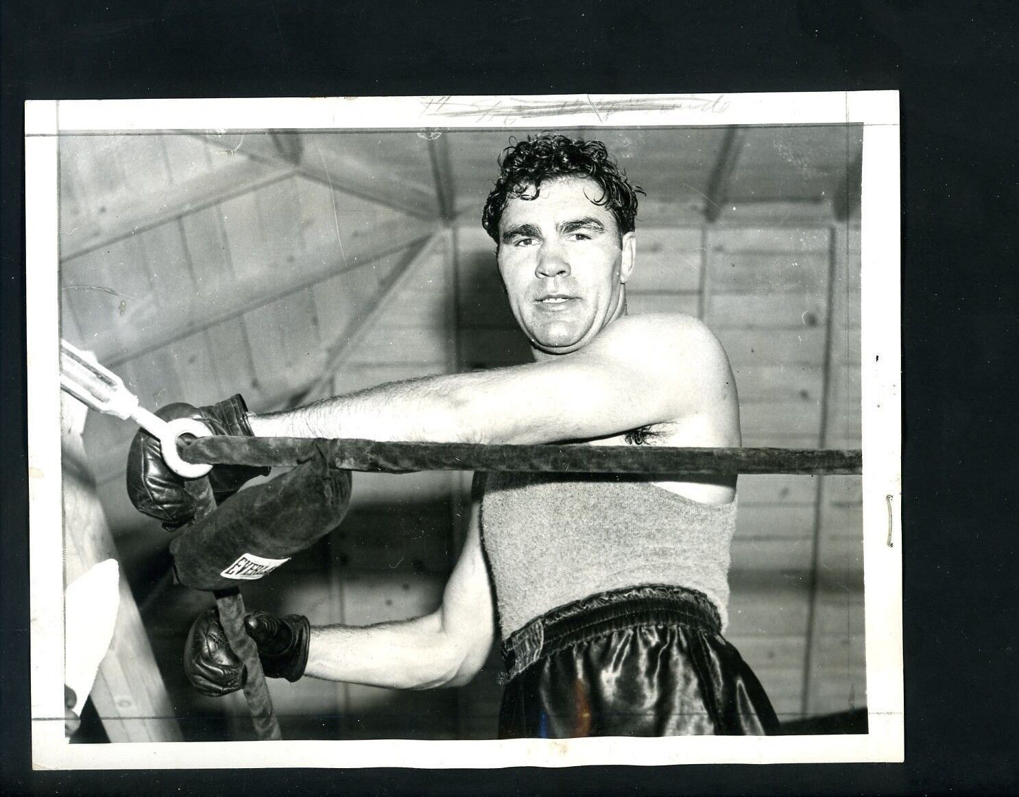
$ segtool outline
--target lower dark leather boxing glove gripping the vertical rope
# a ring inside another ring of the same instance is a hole
[[[245,618],[245,630],[258,645],[267,677],[292,683],[304,675],[311,640],[308,618],[255,612]],[[245,666],[230,649],[215,608],[203,612],[192,624],[184,643],[184,673],[196,690],[210,697],[222,697],[245,685]]]

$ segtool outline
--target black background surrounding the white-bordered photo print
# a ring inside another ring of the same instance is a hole
[[[916,0],[4,0],[0,793],[1019,790],[1013,9]],[[31,772],[23,100],[860,89],[902,92],[905,764]]]

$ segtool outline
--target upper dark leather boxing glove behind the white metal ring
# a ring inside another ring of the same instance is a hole
[[[239,394],[210,407],[171,404],[156,412],[166,421],[194,418],[209,427],[213,434],[253,436],[247,418],[248,408]],[[209,472],[216,501],[235,493],[245,482],[265,476],[268,468],[246,465],[217,465]],[[163,522],[168,531],[190,522],[198,511],[195,498],[184,488],[184,479],[163,462],[159,440],[144,429],[131,440],[127,453],[127,495],[139,512]]]

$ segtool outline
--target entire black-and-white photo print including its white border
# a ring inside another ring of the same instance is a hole
[[[37,762],[902,760],[895,92],[30,106]]]

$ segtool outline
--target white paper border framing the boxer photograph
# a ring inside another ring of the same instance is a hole
[[[899,94],[77,100],[25,103],[32,757],[37,769],[782,763],[904,759]],[[279,125],[280,120],[286,124]],[[861,363],[868,733],[505,741],[71,745],[63,731],[58,136],[727,124],[862,124]]]

